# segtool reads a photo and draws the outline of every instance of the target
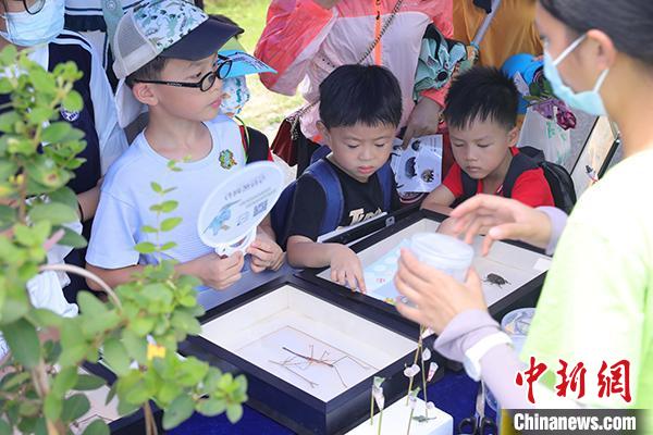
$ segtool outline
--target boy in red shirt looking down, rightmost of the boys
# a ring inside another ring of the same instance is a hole
[[[518,100],[513,80],[494,67],[477,66],[454,80],[444,119],[456,161],[422,208],[448,214],[476,194],[554,206],[544,172],[515,147]]]

